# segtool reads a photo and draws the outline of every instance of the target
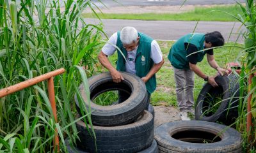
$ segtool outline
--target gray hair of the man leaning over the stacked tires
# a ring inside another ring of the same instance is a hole
[[[120,32],[120,40],[124,45],[130,45],[136,42],[138,38],[138,31],[134,27],[124,27]]]

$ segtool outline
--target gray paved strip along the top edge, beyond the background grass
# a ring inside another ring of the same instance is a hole
[[[237,0],[243,2],[245,0]],[[97,6],[102,6],[98,0],[92,0]],[[156,5],[180,5],[184,0],[102,0],[106,6],[156,6]],[[187,0],[185,4],[234,4],[235,0]]]

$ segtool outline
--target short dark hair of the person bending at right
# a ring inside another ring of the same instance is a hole
[[[212,47],[220,47],[224,45],[225,40],[219,31],[213,31],[205,34],[205,42],[212,43]]]

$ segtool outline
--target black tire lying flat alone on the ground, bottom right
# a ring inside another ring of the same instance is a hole
[[[240,153],[243,143],[235,129],[200,120],[162,124],[156,128],[155,139],[159,152]]]

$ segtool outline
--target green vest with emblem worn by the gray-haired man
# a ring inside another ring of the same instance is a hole
[[[153,39],[143,33],[138,33],[138,35],[140,36],[140,41],[139,41],[136,58],[135,58],[135,69],[136,69],[136,75],[142,78],[148,74],[148,72],[154,65],[154,61],[150,58],[151,42],[153,41]],[[120,40],[120,31],[118,31],[117,33],[116,46],[120,48],[120,50],[124,54],[124,57],[126,57],[127,50],[124,48]],[[117,54],[118,54],[118,59],[116,62],[116,69],[118,71],[125,71],[125,58],[123,57],[123,55],[120,53],[119,50],[117,50]],[[150,92],[150,94],[156,90],[156,75],[151,77],[146,82],[146,87],[147,87],[147,91]]]

